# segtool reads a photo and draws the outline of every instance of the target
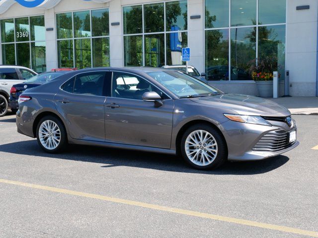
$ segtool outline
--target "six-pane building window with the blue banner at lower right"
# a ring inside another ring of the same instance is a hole
[[[124,65],[182,64],[187,28],[187,0],[124,6]]]

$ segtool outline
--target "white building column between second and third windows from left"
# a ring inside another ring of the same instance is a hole
[[[112,26],[111,23],[115,22],[119,22],[119,25]],[[109,49],[111,67],[122,67],[124,64],[122,24],[121,1],[111,0],[109,2]]]

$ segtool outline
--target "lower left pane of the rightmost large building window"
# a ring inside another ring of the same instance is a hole
[[[208,80],[229,80],[229,30],[205,33],[205,66]]]

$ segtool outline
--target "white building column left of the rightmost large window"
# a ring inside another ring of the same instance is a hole
[[[188,47],[191,48],[189,64],[204,72],[204,0],[188,0]],[[190,19],[191,16],[200,18]]]

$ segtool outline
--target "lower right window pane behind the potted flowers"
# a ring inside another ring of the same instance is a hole
[[[285,25],[258,28],[258,60],[272,60],[271,71],[278,70],[285,77]]]

